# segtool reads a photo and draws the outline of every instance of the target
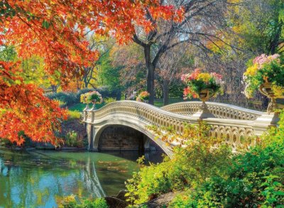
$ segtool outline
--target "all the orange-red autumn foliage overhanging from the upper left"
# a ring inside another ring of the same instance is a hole
[[[4,0],[0,2],[0,46],[16,50],[17,60],[38,55],[45,73],[66,87],[77,69],[90,65],[98,53],[88,48],[88,33],[111,35],[119,43],[133,37],[135,26],[154,28],[146,18],[181,18],[173,6],[159,0]],[[82,73],[82,72],[81,72]],[[23,77],[21,61],[0,62],[0,138],[21,145],[19,131],[33,141],[57,144],[54,135],[66,112],[43,95],[43,89]]]

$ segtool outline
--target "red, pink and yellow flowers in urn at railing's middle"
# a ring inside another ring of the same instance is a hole
[[[186,98],[199,98],[199,93],[203,89],[210,89],[212,92],[222,92],[222,75],[217,73],[201,73],[200,69],[195,69],[192,74],[182,75],[182,82],[187,84],[183,94]]]

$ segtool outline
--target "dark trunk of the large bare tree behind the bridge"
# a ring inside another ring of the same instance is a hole
[[[150,93],[149,104],[154,104],[154,72],[155,67],[151,62],[150,45],[144,48],[144,55],[147,67],[147,92]]]

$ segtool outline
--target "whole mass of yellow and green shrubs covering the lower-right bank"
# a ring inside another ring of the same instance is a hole
[[[173,160],[143,167],[126,182],[131,204],[181,191],[170,207],[281,207],[284,204],[284,114],[257,146],[238,154],[222,140],[209,137],[206,124],[186,126],[186,148]],[[161,133],[164,141],[175,135]]]

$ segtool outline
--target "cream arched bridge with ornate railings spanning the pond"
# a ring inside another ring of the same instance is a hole
[[[201,120],[212,126],[211,135],[226,139],[236,148],[244,141],[253,145],[255,136],[261,135],[268,126],[275,126],[278,121],[274,114],[215,102],[207,102],[213,116],[201,119],[201,105],[202,102],[180,102],[158,108],[143,102],[119,101],[98,110],[85,109],[83,122],[87,128],[89,150],[117,150],[118,146],[120,150],[127,150],[131,147],[130,140],[140,137],[140,142],[136,142],[135,146],[148,149],[152,141],[170,156],[176,144],[168,146],[155,139],[153,131],[146,126],[173,126],[175,131],[182,133],[184,123],[198,124]],[[132,133],[118,143],[119,129],[123,129],[123,133]]]

